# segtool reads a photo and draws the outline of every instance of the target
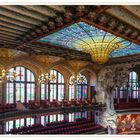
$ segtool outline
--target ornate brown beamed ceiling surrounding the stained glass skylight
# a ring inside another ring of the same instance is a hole
[[[90,61],[88,52],[63,49],[37,40],[72,24],[85,22],[140,45],[139,9],[138,5],[0,5],[0,47]]]

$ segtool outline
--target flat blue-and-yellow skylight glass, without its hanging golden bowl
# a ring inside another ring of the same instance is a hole
[[[85,50],[84,48],[89,46],[90,50],[92,51],[92,44],[94,44],[94,42],[102,42],[102,40],[111,43],[118,42],[121,45],[119,49],[116,50],[114,48],[112,49],[112,51],[110,51],[109,46],[106,46],[106,48],[110,52],[110,58],[140,53],[139,45],[91,25],[88,25],[84,22],[75,23],[53,34],[45,36],[38,41],[61,46],[64,48],[87,52],[87,50]],[[96,49],[99,49],[99,47],[97,47]]]

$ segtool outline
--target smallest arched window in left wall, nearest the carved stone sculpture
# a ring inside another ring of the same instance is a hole
[[[82,75],[82,74],[81,74]],[[71,99],[74,99],[75,97],[75,94],[76,94],[76,99],[80,100],[80,99],[83,99],[83,98],[87,98],[87,95],[88,95],[88,82],[87,82],[87,79],[84,75],[82,75],[85,79],[85,81],[83,83],[77,83],[76,84],[76,91],[75,91],[75,88],[74,88],[74,84],[71,84],[71,78],[72,76],[70,77],[69,79],[69,100]]]

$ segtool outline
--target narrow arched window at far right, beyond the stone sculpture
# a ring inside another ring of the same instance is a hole
[[[138,75],[136,72],[132,71],[129,74],[128,83],[128,96],[132,99],[138,99]]]

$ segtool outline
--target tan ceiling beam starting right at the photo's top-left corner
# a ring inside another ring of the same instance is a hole
[[[29,16],[36,20],[40,20],[40,21],[46,20],[46,16],[39,14],[38,12],[28,10],[27,8],[23,7],[22,5],[1,5],[0,7],[3,7],[5,9],[13,11],[13,12],[20,13],[25,16]]]

